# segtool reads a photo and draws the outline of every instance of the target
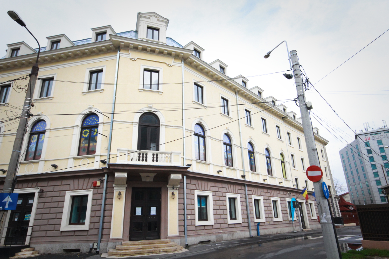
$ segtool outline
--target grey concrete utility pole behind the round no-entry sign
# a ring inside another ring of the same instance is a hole
[[[303,89],[303,80],[301,78],[300,64],[298,62],[296,50],[292,50],[291,61],[293,68],[294,81],[296,82],[296,90],[298,95],[298,103],[300,105],[301,120],[303,122],[305,144],[307,145],[307,153],[309,165],[319,164],[319,157],[317,156],[316,143],[314,132],[312,129],[312,124],[310,121],[309,110],[307,108],[307,103],[305,101],[304,89]],[[317,209],[319,210],[320,225],[323,234],[324,247],[326,249],[326,254],[328,259],[340,259],[338,253],[338,247],[336,245],[335,233],[332,226],[331,214],[328,208],[327,199],[324,197],[322,191],[323,179],[318,182],[314,182],[315,195],[317,201]]]

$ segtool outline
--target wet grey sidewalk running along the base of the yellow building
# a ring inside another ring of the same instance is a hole
[[[347,226],[344,228],[337,228],[336,233],[341,233],[350,229],[359,229],[359,226]],[[253,231],[253,234],[256,234],[256,231]],[[140,259],[165,259],[165,258],[181,258],[186,256],[193,256],[195,254],[203,254],[210,252],[212,250],[223,249],[228,247],[237,247],[240,245],[249,245],[253,243],[267,243],[278,240],[285,240],[289,238],[296,237],[306,237],[310,235],[321,234],[321,229],[312,229],[309,231],[298,231],[297,233],[280,233],[273,235],[261,235],[254,236],[252,238],[239,238],[222,242],[213,242],[201,245],[191,245],[184,252],[172,253],[172,254],[155,254],[155,255],[144,255],[144,256],[131,256],[131,257],[111,257],[108,258],[135,258],[140,257]],[[88,253],[76,253],[76,254],[44,254],[42,256],[30,257],[31,259],[100,259],[108,256],[107,254],[88,254]]]

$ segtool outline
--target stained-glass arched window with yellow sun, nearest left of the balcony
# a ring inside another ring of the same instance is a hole
[[[94,155],[96,153],[98,121],[96,114],[88,115],[82,121],[79,156]]]

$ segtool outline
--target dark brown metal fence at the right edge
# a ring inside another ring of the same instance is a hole
[[[356,207],[363,240],[389,241],[389,204]]]

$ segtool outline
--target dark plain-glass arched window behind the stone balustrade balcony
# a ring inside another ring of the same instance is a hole
[[[144,113],[139,118],[138,149],[159,150],[159,120],[153,113]]]

